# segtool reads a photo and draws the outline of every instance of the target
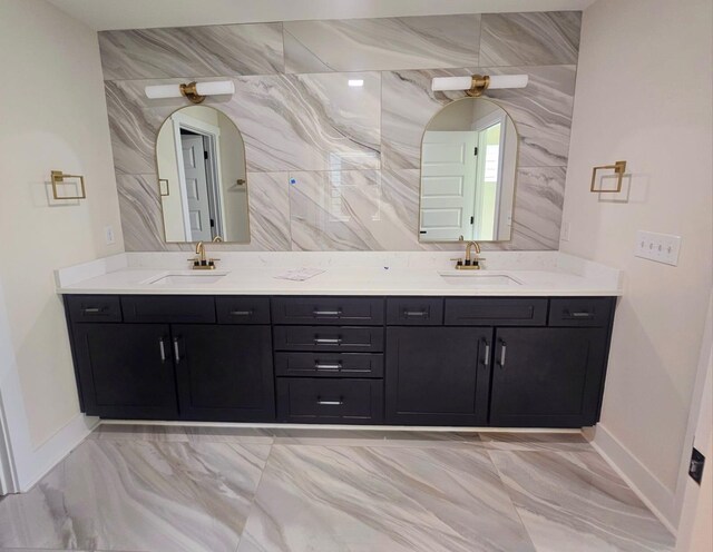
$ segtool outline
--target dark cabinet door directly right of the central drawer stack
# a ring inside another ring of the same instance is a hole
[[[485,425],[491,328],[387,329],[387,422]]]

